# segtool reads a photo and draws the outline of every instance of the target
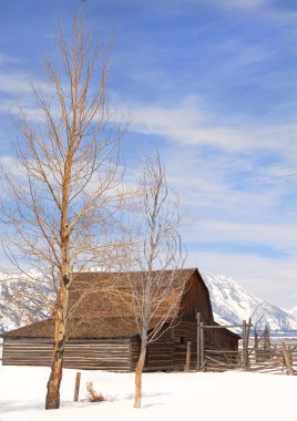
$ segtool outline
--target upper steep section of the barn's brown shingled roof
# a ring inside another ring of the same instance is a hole
[[[181,307],[181,291],[185,291],[187,283],[194,274],[198,274],[197,269],[152,273],[154,281],[158,283],[160,290],[165,289],[168,284],[171,285],[171,292],[166,294],[166,298],[154,315],[155,317],[167,315],[168,307],[172,307],[171,317],[177,317]],[[71,317],[80,319],[134,317],[132,288],[136,288],[141,292],[144,286],[144,276],[145,274],[141,271],[74,274],[69,289]],[[203,281],[202,278],[201,280]]]

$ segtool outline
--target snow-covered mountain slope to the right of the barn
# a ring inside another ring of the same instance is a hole
[[[212,274],[204,274],[203,279],[211,294],[215,320],[219,324],[240,324],[252,317],[257,329],[264,329],[266,324],[272,330],[297,329],[294,311],[285,311],[253,296],[234,279]]]

